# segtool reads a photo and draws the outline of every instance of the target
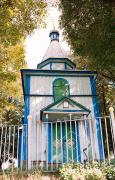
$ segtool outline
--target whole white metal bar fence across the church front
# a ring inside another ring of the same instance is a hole
[[[41,158],[29,159],[28,126],[0,126],[0,170],[23,169],[57,170],[65,163],[85,163],[115,159],[115,142],[110,117],[96,118],[100,123],[102,157],[97,144],[95,119],[42,122]],[[78,128],[79,127],[79,128]],[[48,131],[46,131],[48,129]],[[44,134],[46,133],[46,134]],[[45,136],[45,141],[44,141]],[[32,137],[31,137],[32,138]],[[37,137],[36,135],[36,138]],[[36,141],[37,142],[37,141]],[[34,148],[34,147],[33,147]],[[31,148],[32,150],[32,148]],[[37,150],[36,150],[37,151]]]

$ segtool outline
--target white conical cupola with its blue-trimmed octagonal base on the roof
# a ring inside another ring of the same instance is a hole
[[[42,58],[42,62],[37,65],[43,70],[72,70],[76,65],[68,59],[59,42],[59,31],[54,29],[49,33],[50,44]]]

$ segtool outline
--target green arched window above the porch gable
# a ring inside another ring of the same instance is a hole
[[[54,101],[70,94],[69,83],[65,79],[56,79],[53,83]]]

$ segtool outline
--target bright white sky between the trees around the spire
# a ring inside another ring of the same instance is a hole
[[[55,26],[60,32],[60,44],[65,51],[69,51],[69,46],[66,41],[63,40],[62,30],[59,29],[59,15],[60,12],[58,8],[50,7],[48,8],[48,15],[45,20],[46,28],[36,29],[34,32],[28,36],[25,40],[25,60],[27,62],[27,67],[35,69],[37,64],[42,61],[49,44],[49,32]]]

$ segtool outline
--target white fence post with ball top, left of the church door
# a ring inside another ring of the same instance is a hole
[[[28,169],[31,169],[31,126],[32,126],[32,116],[29,114],[28,115],[28,143],[27,143],[27,151],[28,151],[28,157],[27,157],[27,164],[28,164]]]

